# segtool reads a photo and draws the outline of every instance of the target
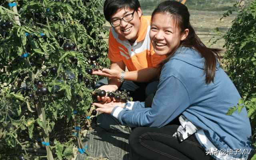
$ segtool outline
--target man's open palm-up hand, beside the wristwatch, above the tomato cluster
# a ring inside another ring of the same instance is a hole
[[[99,76],[104,76],[108,78],[120,79],[121,72],[122,70],[103,68],[102,70],[93,70],[92,74],[97,74]]]

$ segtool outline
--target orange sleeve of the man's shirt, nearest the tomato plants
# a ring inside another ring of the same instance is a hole
[[[118,42],[114,38],[111,28],[108,37],[108,58],[113,62],[118,62],[122,60],[122,56],[120,55],[118,48]]]

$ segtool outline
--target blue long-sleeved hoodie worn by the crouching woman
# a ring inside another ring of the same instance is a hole
[[[144,102],[130,102],[126,108],[116,106],[112,115],[124,125],[160,128],[182,114],[201,128],[218,150],[249,151],[251,126],[246,108],[239,114],[226,115],[228,108],[237,106],[240,98],[218,63],[214,82],[206,84],[204,58],[192,48],[181,47],[162,68],[151,108],[144,108]],[[246,156],[247,152],[232,155]]]

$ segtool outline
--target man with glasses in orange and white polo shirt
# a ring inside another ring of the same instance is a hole
[[[144,101],[156,91],[157,81],[150,84],[145,95],[146,86],[160,73],[158,64],[166,58],[156,55],[150,44],[151,17],[142,16],[138,0],[106,0],[104,16],[112,26],[108,40],[111,65],[110,69],[94,70],[93,74],[108,77],[100,80],[96,87],[100,86],[99,89],[106,92],[118,88],[127,90],[134,100]],[[128,72],[125,72],[126,67]],[[107,96],[97,99],[111,101]]]

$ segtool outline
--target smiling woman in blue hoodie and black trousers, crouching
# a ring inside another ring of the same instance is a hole
[[[249,160],[253,150],[246,108],[226,115],[241,97],[220,68],[220,50],[200,41],[189,16],[186,6],[170,0],[152,13],[150,40],[156,54],[168,58],[161,64],[151,108],[143,102],[112,102],[95,103],[97,110],[121,124],[144,126],[129,138],[140,160]],[[170,124],[177,116],[180,125]]]

